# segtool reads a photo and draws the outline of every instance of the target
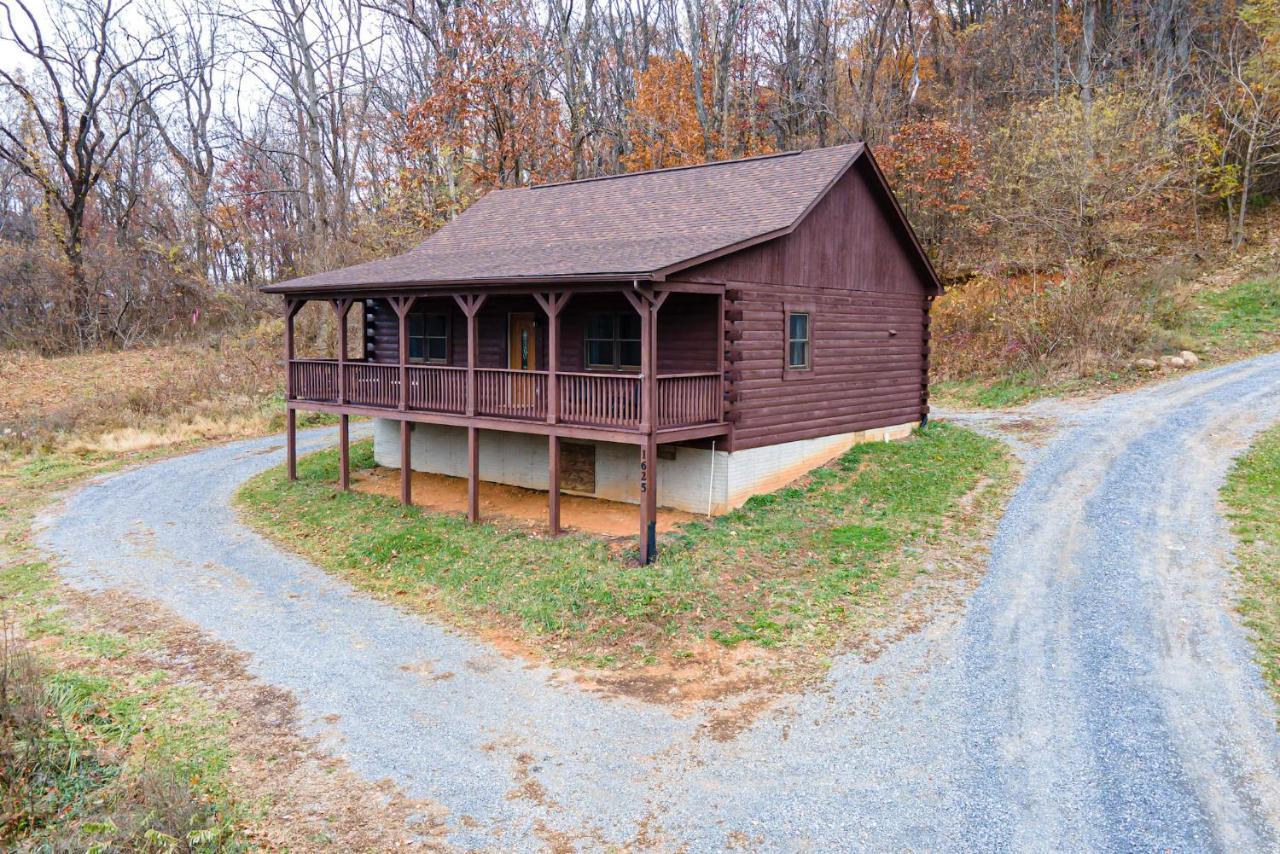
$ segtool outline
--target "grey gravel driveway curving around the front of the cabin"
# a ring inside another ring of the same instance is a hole
[[[1037,417],[1060,429],[1023,446],[968,608],[837,659],[724,741],[244,529],[232,493],[280,462],[279,439],[97,481],[41,538],[72,584],[154,598],[251,653],[358,772],[448,808],[461,846],[1275,849],[1280,741],[1230,613],[1216,495],[1280,417],[1280,355],[982,423]]]

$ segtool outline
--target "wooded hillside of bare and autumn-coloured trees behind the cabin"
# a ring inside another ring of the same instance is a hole
[[[1084,371],[1157,310],[1135,270],[1280,187],[1277,0],[27,3],[0,341],[46,353],[248,320],[493,187],[864,138],[960,284],[955,369]]]

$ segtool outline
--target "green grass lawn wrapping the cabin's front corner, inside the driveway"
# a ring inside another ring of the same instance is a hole
[[[352,461],[372,466],[371,446],[353,446]],[[995,517],[1012,465],[997,442],[945,424],[859,446],[666,536],[648,567],[589,535],[552,539],[343,493],[333,451],[301,460],[298,478],[274,469],[246,484],[247,520],[411,609],[508,630],[556,659],[617,666],[708,639],[827,645],[864,612],[892,609],[916,577],[947,572],[934,551]]]

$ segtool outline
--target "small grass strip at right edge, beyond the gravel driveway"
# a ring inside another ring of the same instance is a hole
[[[1253,634],[1258,663],[1280,704],[1280,425],[1240,457],[1222,488],[1238,539],[1238,604]]]

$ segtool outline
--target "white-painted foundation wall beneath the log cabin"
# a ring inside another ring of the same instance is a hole
[[[773,492],[861,442],[891,442],[911,434],[918,423],[801,439],[726,453],[676,447],[676,458],[658,458],[658,503],[691,513],[724,513],[751,495]],[[576,442],[576,439],[564,439]],[[547,489],[547,437],[480,430],[480,479]],[[595,446],[595,498],[640,503],[640,448],[614,442]],[[374,460],[399,467],[399,421],[374,419]],[[467,476],[466,428],[415,424],[410,440],[415,471]],[[566,493],[572,492],[566,489]]]

